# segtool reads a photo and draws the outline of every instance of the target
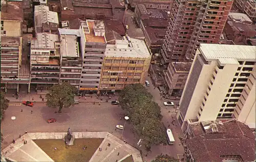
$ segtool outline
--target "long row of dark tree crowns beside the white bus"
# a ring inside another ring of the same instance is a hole
[[[152,98],[141,84],[127,85],[119,96],[121,107],[127,111],[135,131],[147,146],[166,144],[161,110]]]

